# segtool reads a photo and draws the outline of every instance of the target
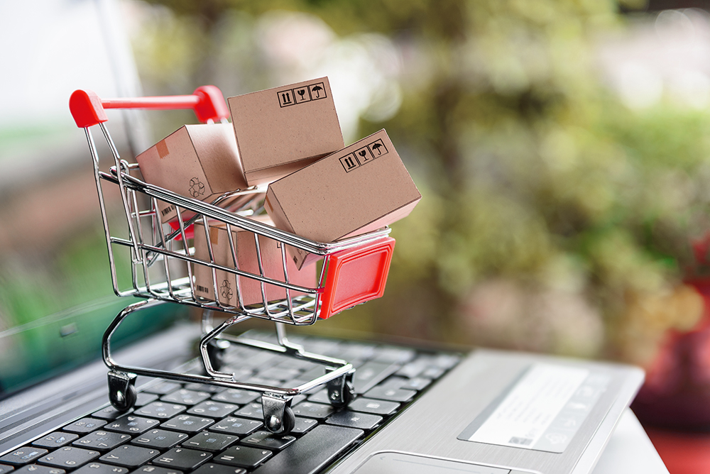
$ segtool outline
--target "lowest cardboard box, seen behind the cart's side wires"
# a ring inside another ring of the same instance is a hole
[[[271,219],[264,216],[265,219],[255,219],[263,224],[272,225]],[[244,231],[241,228],[231,227],[232,241],[236,250],[237,268],[239,270],[249,272],[253,275],[260,275],[258,256],[256,253],[256,241],[253,232]],[[229,246],[229,236],[227,235],[226,225],[221,222],[212,222],[209,224],[207,233],[209,241],[212,243],[212,255],[214,255],[214,263],[227,268],[234,267],[234,257]],[[261,251],[261,264],[263,265],[264,275],[273,280],[280,282],[284,280],[283,274],[283,258],[281,255],[282,244],[271,238],[258,236],[259,250]],[[195,222],[195,258],[209,262],[209,249],[207,248],[207,238],[204,233],[204,224],[202,220]],[[311,265],[309,268],[298,270],[290,258],[286,258],[286,272],[288,272],[288,281],[293,285],[301,287],[315,288],[316,287],[316,266]],[[241,291],[242,302],[244,304],[258,304],[263,302],[261,295],[261,282],[249,277],[238,277],[233,273],[224,270],[216,270],[217,287],[219,302],[229,306],[238,307],[239,299],[237,297],[237,278],[239,278],[239,290]],[[212,281],[212,269],[205,265],[195,264],[195,294],[208,299],[214,298],[214,285]],[[273,301],[275,299],[284,299],[286,290],[277,285],[266,284],[266,299]],[[301,292],[291,291],[291,297],[296,297]]]

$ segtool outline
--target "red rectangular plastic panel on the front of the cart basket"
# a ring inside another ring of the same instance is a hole
[[[330,256],[319,317],[329,318],[385,292],[395,239],[384,238]]]

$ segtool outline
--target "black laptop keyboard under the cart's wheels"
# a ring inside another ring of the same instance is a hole
[[[279,436],[263,426],[258,392],[155,380],[128,413],[109,405],[0,456],[0,474],[315,474],[385,426],[461,358],[313,336],[289,340],[353,363],[356,398],[334,409],[324,387],[298,395],[291,402],[295,427]],[[236,344],[224,362],[238,380],[261,385],[295,387],[324,374],[322,365]]]

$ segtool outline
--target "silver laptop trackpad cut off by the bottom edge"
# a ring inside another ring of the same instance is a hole
[[[357,474],[508,474],[510,470],[490,468],[486,465],[459,463],[416,454],[374,453],[359,468]]]

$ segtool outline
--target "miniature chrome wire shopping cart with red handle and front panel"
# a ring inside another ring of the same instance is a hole
[[[104,109],[193,109],[203,123],[226,122],[229,111],[222,92],[217,87],[200,87],[187,96],[137,99],[100,99],[94,92],[77,90],[70,98],[70,109],[77,126],[84,128],[94,163],[94,177],[109,250],[114,292],[119,297],[134,296],[143,299],[116,315],[104,333],[102,351],[104,363],[109,367],[111,404],[119,411],[133,407],[136,403],[137,375],[253,390],[262,394],[266,428],[280,434],[288,433],[293,428],[295,417],[290,402],[302,392],[326,385],[329,400],[334,407],[348,404],[354,396],[353,366],[344,360],[308,353],[301,346],[290,343],[283,324],[314,324],[318,319],[327,318],[355,304],[381,297],[394,248],[394,239],[388,236],[389,229],[382,228],[336,243],[318,243],[249,219],[249,216],[263,212],[261,203],[266,191],[264,187],[239,189],[224,194],[211,203],[200,202],[147,184],[143,181],[137,164],[121,160],[104,123],[108,120]],[[110,153],[113,156],[113,165],[107,171],[99,170],[99,152],[92,137],[92,126],[95,125],[101,129],[110,150],[102,151],[102,155]],[[123,214],[119,212],[121,218],[118,224],[110,219],[109,202],[104,199],[111,191],[114,191],[114,195],[120,194],[125,214],[124,219]],[[239,209],[228,211],[217,205],[234,202],[235,199],[242,203]],[[172,204],[177,209],[177,218],[170,225],[161,224],[157,211],[159,203]],[[192,233],[207,233],[208,226],[214,225],[215,222],[224,226],[229,236],[229,251],[233,258],[231,263],[226,265],[215,260],[209,238],[206,238],[209,250],[207,258],[197,258],[195,248],[190,246]],[[240,268],[236,256],[239,249],[231,237],[232,230],[253,236],[258,270],[247,271]],[[283,277],[267,275],[264,271],[260,237],[280,243]],[[315,287],[295,285],[293,280],[289,280],[287,246],[305,250],[321,259],[320,263],[314,264],[320,265],[317,267],[319,270]],[[119,261],[129,262],[129,265],[124,265],[129,266],[131,270],[131,284],[128,289],[119,287],[116,265]],[[209,269],[208,274],[212,274],[212,297],[202,297],[196,293],[194,272],[199,265]],[[218,272],[219,275],[224,275],[224,272],[234,275],[234,292],[237,297],[229,300],[231,304],[220,297]],[[251,285],[257,282],[257,285],[261,286],[261,302],[256,304],[244,304],[241,298],[239,282],[244,284],[250,280]],[[284,297],[268,299],[267,287],[283,289],[280,291]],[[161,302],[187,304],[202,309],[203,334],[199,348],[204,375],[125,367],[111,357],[111,336],[121,322],[132,312]],[[227,318],[221,324],[213,326],[212,319],[217,312],[226,314]],[[274,321],[278,344],[236,338],[224,333],[230,326],[249,318]],[[220,364],[219,348],[228,345],[229,341],[320,363],[325,366],[326,373],[297,387],[272,387],[240,382],[235,379],[234,373],[222,371]]]

